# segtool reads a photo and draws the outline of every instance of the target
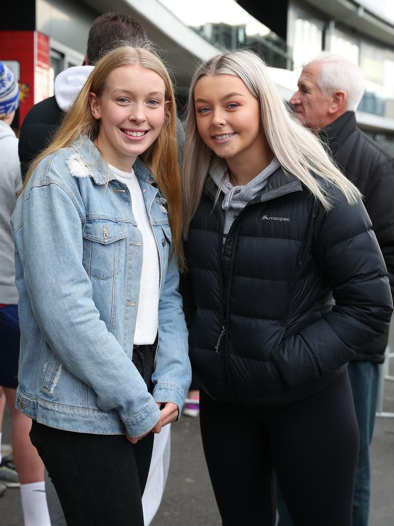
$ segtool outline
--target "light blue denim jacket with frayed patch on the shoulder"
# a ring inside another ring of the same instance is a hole
[[[139,159],[134,171],[160,256],[153,396],[131,361],[142,235],[126,185],[85,139],[43,159],[17,201],[17,407],[47,426],[137,437],[156,401],[182,409],[191,369],[165,199]]]

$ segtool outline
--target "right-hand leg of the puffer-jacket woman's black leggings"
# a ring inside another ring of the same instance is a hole
[[[269,443],[295,526],[351,526],[358,427],[347,373],[273,413]]]

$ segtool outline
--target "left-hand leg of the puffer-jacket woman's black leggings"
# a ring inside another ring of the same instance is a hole
[[[274,526],[273,467],[268,434],[241,406],[200,392],[204,453],[223,526]]]

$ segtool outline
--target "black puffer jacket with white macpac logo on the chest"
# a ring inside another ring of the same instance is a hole
[[[209,178],[185,243],[193,371],[220,402],[304,398],[387,330],[391,294],[369,217],[335,188],[326,214],[278,169],[234,220],[222,257],[215,191]]]

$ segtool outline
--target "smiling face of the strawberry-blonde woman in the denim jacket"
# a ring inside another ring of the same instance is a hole
[[[114,69],[102,95],[91,93],[89,103],[94,118],[100,119],[96,145],[109,164],[123,171],[130,171],[157,139],[169,105],[163,79],[139,64]]]

